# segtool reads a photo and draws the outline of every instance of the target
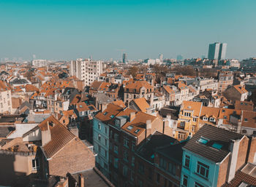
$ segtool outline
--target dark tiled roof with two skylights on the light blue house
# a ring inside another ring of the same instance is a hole
[[[187,142],[184,146],[185,149],[191,151],[197,155],[203,156],[204,158],[211,160],[215,163],[222,162],[222,160],[230,152],[229,147],[232,140],[238,140],[243,138],[244,135],[240,135],[235,132],[214,127],[209,124],[203,125],[198,132]],[[199,143],[200,138],[205,138],[208,143]],[[211,147],[214,143],[222,145],[221,149]]]

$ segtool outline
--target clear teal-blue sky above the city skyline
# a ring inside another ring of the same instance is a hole
[[[256,56],[255,0],[0,0],[0,58]]]

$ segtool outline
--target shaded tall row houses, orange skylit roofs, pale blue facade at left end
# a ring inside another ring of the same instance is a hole
[[[112,103],[94,116],[94,151],[97,167],[116,186],[134,186],[129,180],[135,163],[135,150],[154,133],[170,132],[156,116],[122,108]],[[106,171],[105,171],[106,170]]]

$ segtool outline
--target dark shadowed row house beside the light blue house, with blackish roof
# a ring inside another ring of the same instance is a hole
[[[181,178],[182,147],[175,138],[154,132],[135,151],[135,186],[178,187]]]

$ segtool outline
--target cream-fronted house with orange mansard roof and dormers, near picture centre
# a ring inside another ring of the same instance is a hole
[[[124,85],[124,103],[128,106],[129,102],[136,98],[146,98],[150,106],[154,101],[154,87],[147,81],[129,81]]]

